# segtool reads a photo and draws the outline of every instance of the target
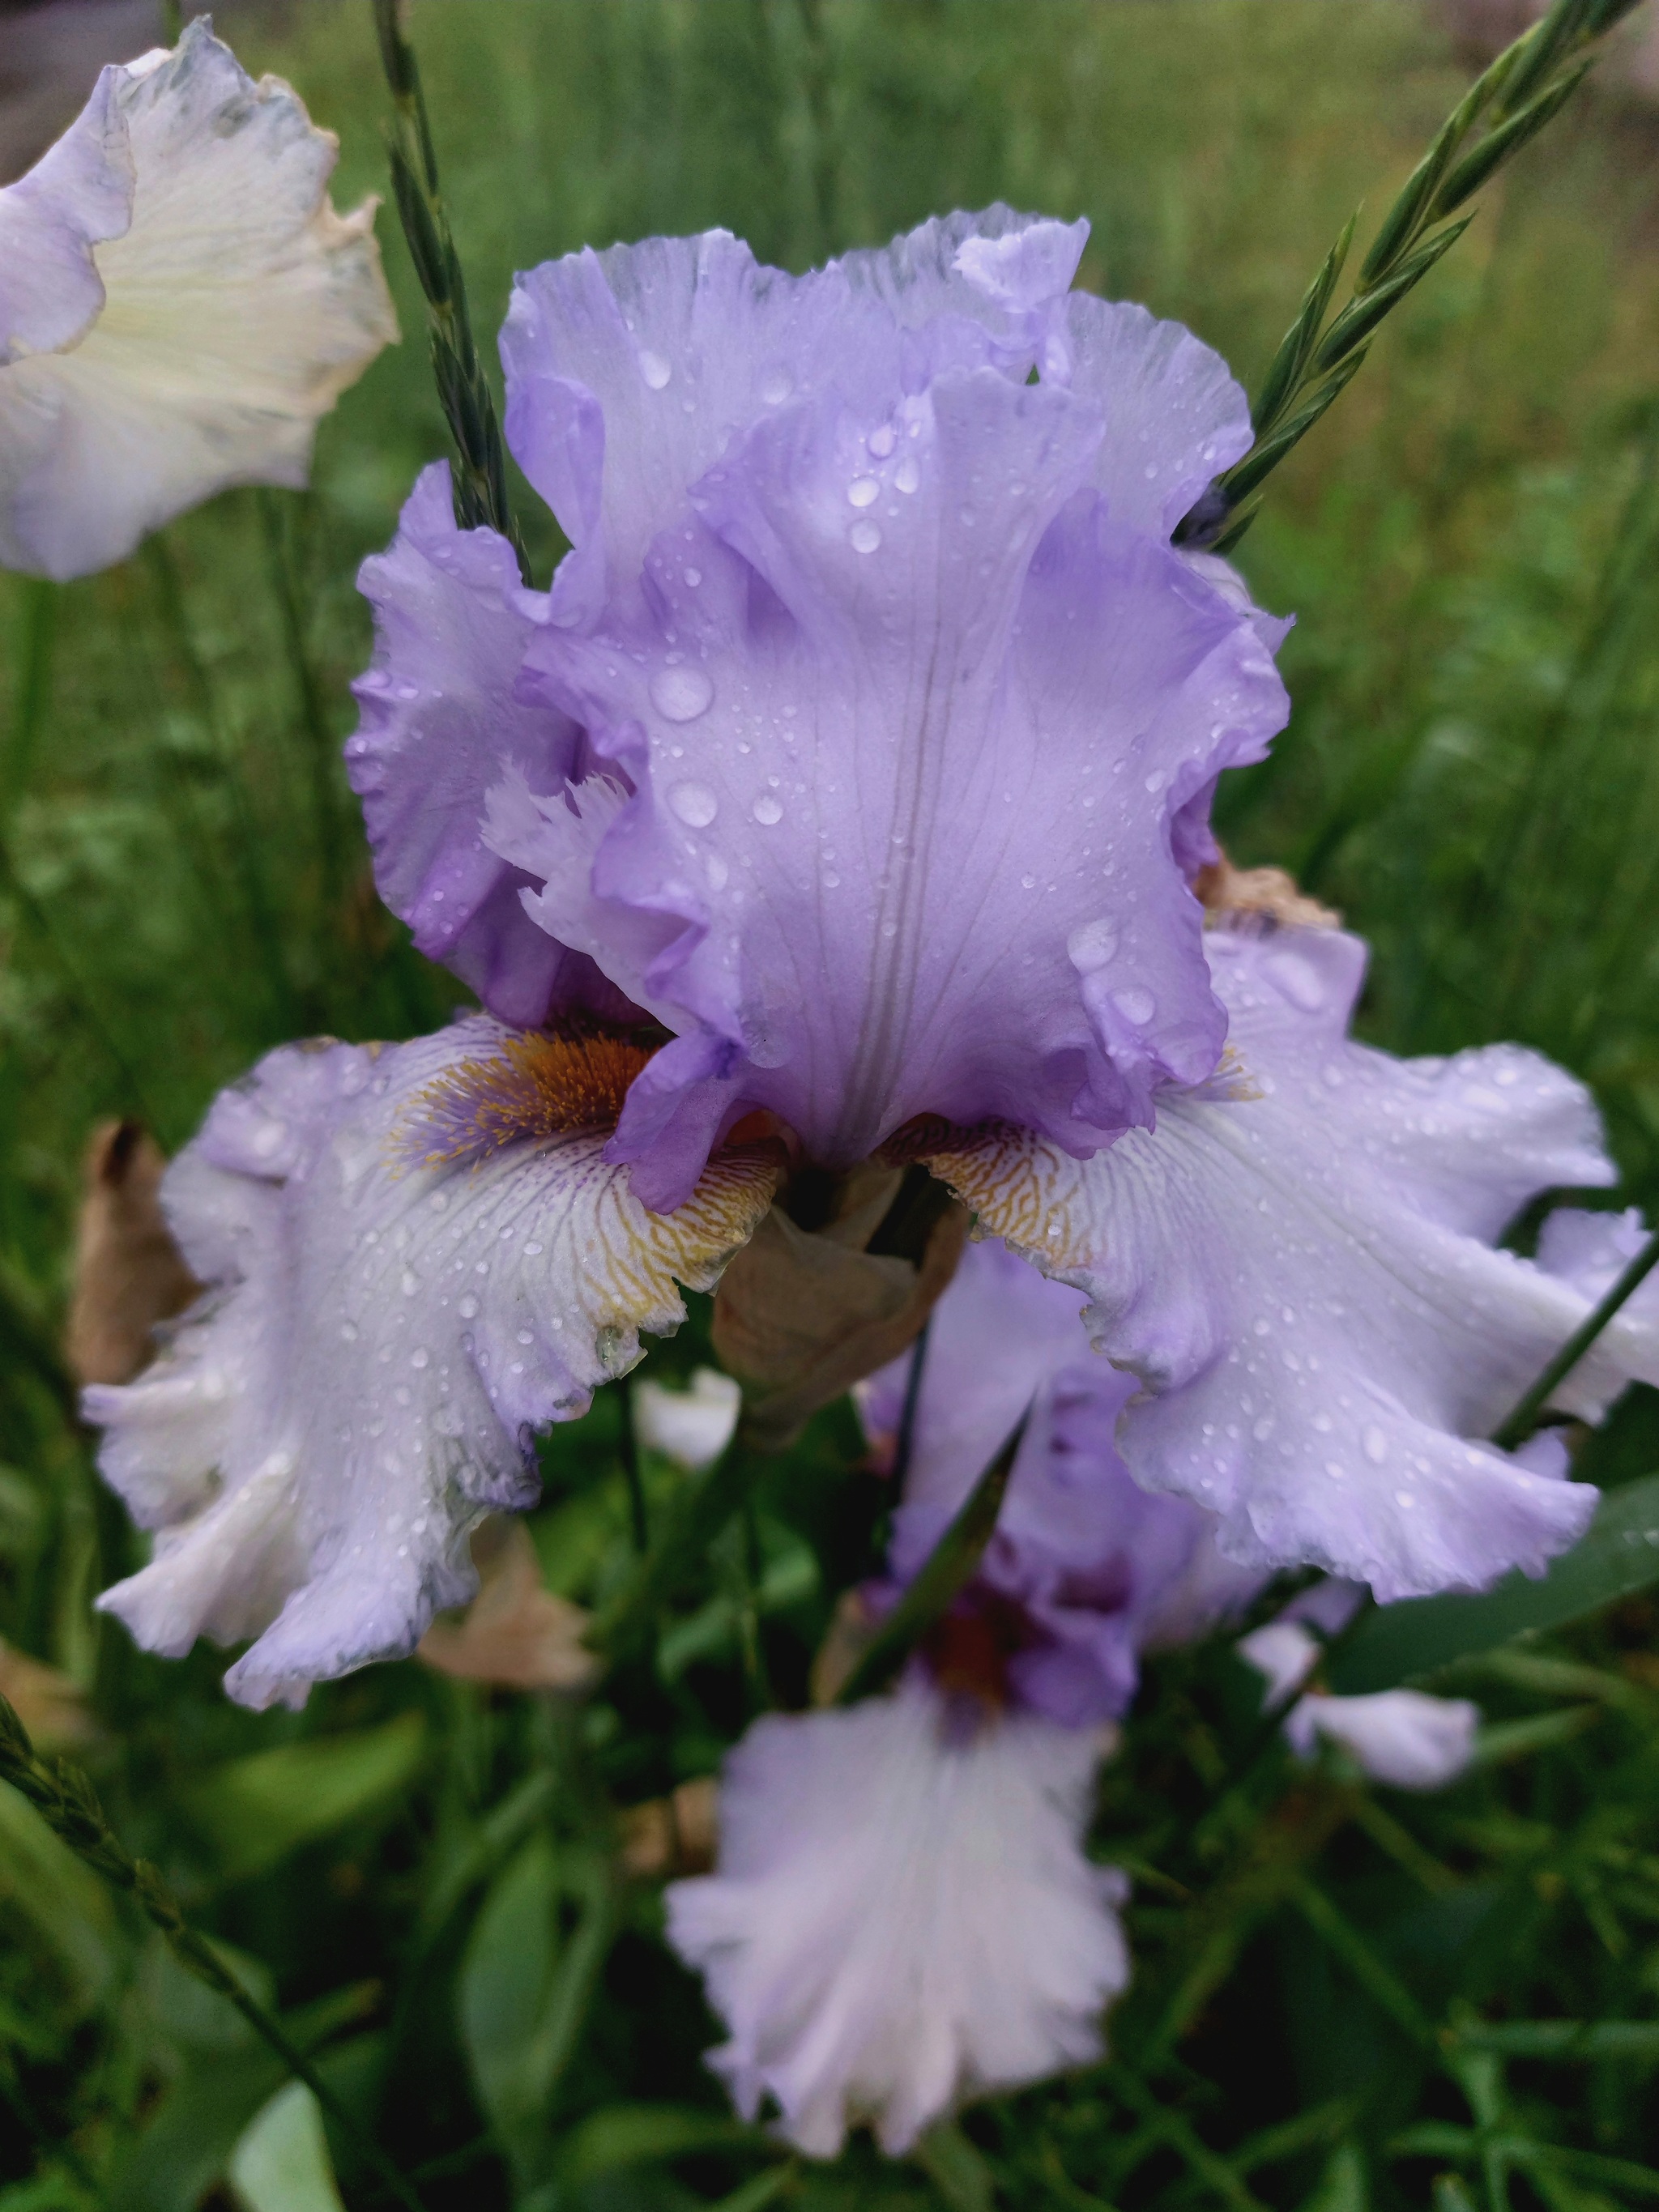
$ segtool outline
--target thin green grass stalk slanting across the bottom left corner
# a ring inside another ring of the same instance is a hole
[[[188,1924],[159,1871],[146,1858],[133,1858],[124,1849],[104,1816],[104,1807],[97,1803],[97,1792],[82,1770],[62,1759],[55,1767],[46,1767],[29,1741],[29,1730],[4,1697],[0,1697],[0,1781],[11,1783],[84,1865],[133,1898],[144,1918],[166,1936],[173,1955],[186,1973],[192,1973],[197,1982],[206,1982],[208,1989],[237,2006],[254,2035],[276,2053],[294,2079],[305,2084],[330,2119],[352,2141],[365,2166],[405,2205],[405,2212],[425,2212],[420,2197],[409,2188],[380,2146],[363,2132],[283,2024],[243,1989],[212,1944]]]

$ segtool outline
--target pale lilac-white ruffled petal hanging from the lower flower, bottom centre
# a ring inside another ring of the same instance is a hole
[[[812,2157],[860,2124],[898,2154],[964,2097],[1097,2057],[1128,1955],[1121,1876],[1082,1854],[1093,1767],[1086,1732],[962,1734],[916,1679],[759,1721],[726,1763],[717,1871],[668,1889],[739,2112],[776,2099]]]

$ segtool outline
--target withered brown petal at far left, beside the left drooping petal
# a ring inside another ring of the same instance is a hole
[[[137,1121],[102,1121],[86,1148],[69,1303],[69,1365],[82,1383],[131,1383],[161,1321],[199,1294],[161,1212],[161,1146]]]

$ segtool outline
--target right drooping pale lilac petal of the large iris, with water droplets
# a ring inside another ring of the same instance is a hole
[[[1398,1062],[1349,1042],[1365,951],[1338,931],[1212,931],[1232,1071],[1077,1164],[1018,1130],[936,1155],[1150,1402],[1137,1482],[1221,1515],[1245,1566],[1314,1562],[1380,1599],[1537,1573],[1595,1493],[1478,1442],[1588,1301],[1493,1248],[1548,1186],[1613,1170],[1579,1084],[1489,1046]],[[1628,1332],[1579,1387],[1659,1376]]]

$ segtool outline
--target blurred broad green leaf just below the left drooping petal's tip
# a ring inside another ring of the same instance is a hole
[[[188,1783],[179,1803],[212,1845],[223,1878],[239,1882],[400,1796],[422,1756],[425,1721],[403,1712],[383,1728],[232,1759]]]

